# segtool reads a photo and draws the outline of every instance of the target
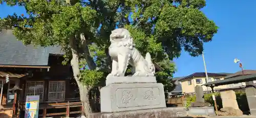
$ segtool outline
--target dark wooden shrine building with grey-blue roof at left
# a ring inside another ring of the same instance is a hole
[[[72,68],[61,64],[60,47],[25,46],[8,29],[0,35],[0,51],[0,113],[24,117],[27,96],[40,97],[39,117],[81,113]]]

